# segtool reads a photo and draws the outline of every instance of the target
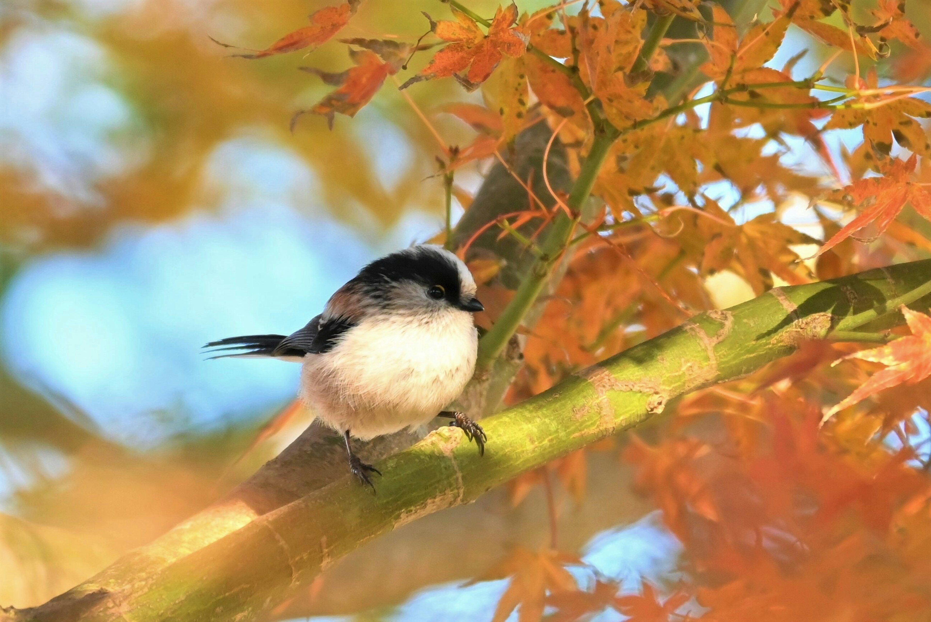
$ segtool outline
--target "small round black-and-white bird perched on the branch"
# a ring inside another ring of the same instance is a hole
[[[300,397],[317,419],[343,434],[349,468],[372,486],[381,473],[353,453],[368,440],[452,418],[485,453],[484,430],[463,412],[443,411],[475,372],[484,307],[466,264],[449,250],[420,245],[363,267],[300,331],[210,342],[211,358],[271,357],[303,363]],[[372,486],[373,487],[373,486]]]

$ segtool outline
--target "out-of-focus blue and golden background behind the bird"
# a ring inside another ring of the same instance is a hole
[[[345,47],[247,61],[209,39],[265,47],[326,4],[0,4],[0,604],[44,602],[149,542],[307,424],[298,417],[237,462],[293,399],[299,370],[205,361],[200,345],[296,330],[362,264],[441,230],[437,142],[390,80],[355,119],[330,130],[305,115],[291,133],[291,115],[331,90],[296,67],[343,71]],[[491,15],[496,3],[469,6]],[[925,31],[927,8],[910,9]],[[412,41],[427,28],[420,10],[448,9],[370,0],[339,36]],[[813,46],[789,36],[776,65]],[[817,50],[804,63],[816,67]],[[452,80],[409,92],[449,143],[474,137],[437,111],[480,93]],[[803,150],[787,157],[823,171]],[[459,171],[457,185],[474,193],[487,165]],[[644,500],[595,494],[629,474],[613,454],[592,460],[592,492],[560,501],[581,525],[566,544],[606,576],[668,581],[678,542]],[[500,525],[501,547],[546,539],[540,490],[502,507],[483,519]],[[487,620],[505,587],[423,579],[367,602],[349,583],[337,568],[298,606],[349,619]]]

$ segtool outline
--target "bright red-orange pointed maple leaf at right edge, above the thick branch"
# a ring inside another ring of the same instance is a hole
[[[856,206],[863,211],[825,242],[817,254],[829,250],[870,223],[876,224],[876,235],[881,235],[909,201],[915,211],[931,221],[931,188],[910,181],[916,161],[914,154],[908,160],[896,159],[885,169],[884,177],[861,179],[831,193],[829,200]]]

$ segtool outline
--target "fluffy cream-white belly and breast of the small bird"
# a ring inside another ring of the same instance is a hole
[[[323,423],[371,439],[420,426],[459,397],[475,371],[471,314],[428,322],[369,318],[331,351],[304,358],[301,398]]]

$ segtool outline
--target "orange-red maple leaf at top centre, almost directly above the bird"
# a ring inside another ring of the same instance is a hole
[[[426,13],[424,15],[430,20],[430,30],[449,45],[439,50],[420,74],[414,75],[401,88],[422,80],[454,75],[468,90],[474,90],[488,79],[505,56],[517,57],[527,50],[529,37],[513,27],[518,20],[517,5],[498,7],[487,35],[482,34],[479,24],[455,7],[452,8],[454,21],[434,21]],[[465,75],[458,74],[466,69]]]

